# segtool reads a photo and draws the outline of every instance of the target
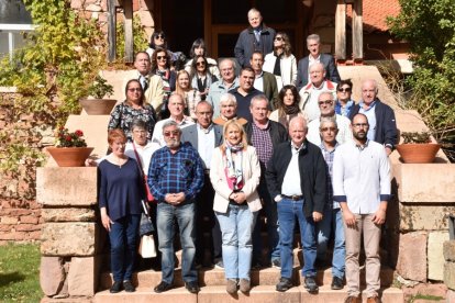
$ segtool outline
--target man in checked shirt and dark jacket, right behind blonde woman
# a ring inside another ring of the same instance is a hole
[[[280,249],[278,235],[278,215],[277,205],[274,203],[271,195],[267,189],[265,180],[265,171],[268,160],[271,157],[274,148],[282,142],[288,139],[288,133],[285,126],[280,123],[270,121],[267,117],[268,100],[264,94],[253,97],[249,111],[253,116],[253,122],[245,125],[245,133],[248,144],[256,148],[257,157],[260,164],[260,181],[257,192],[264,201],[264,211],[267,217],[267,234],[269,247],[269,260],[273,267],[279,268]],[[256,221],[256,226],[253,233],[253,267],[260,267],[262,255],[262,237],[260,237],[260,220]]]

